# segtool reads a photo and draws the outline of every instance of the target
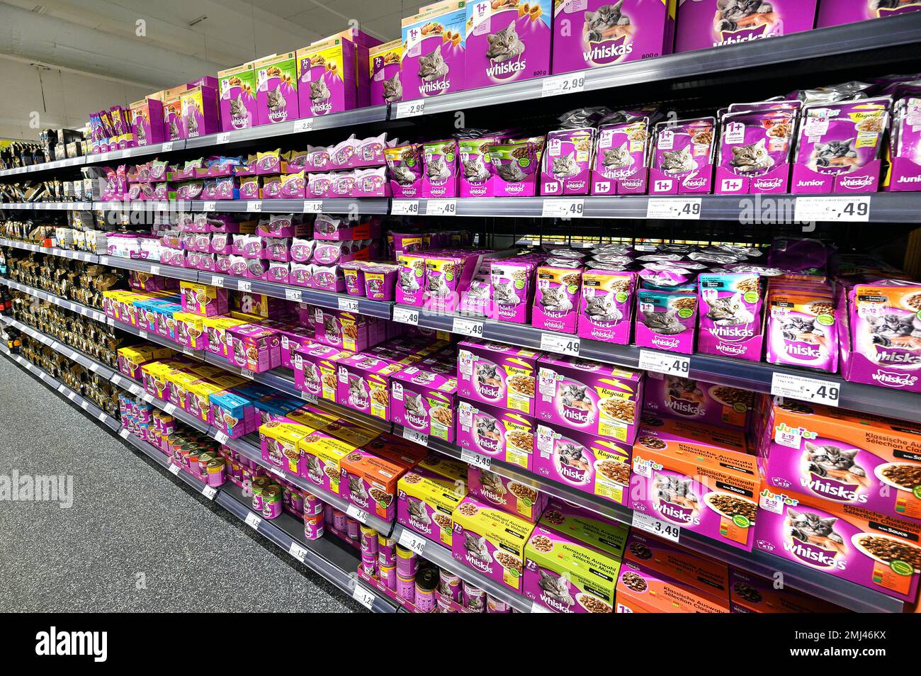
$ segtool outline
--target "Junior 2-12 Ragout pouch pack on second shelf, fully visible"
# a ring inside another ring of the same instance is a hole
[[[892,99],[805,106],[790,192],[877,192]]]

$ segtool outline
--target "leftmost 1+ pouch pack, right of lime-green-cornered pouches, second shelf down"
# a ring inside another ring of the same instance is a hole
[[[589,194],[595,130],[560,129],[547,134],[541,169],[541,194]]]

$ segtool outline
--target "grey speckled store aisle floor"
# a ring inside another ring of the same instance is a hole
[[[0,475],[14,472],[72,475],[73,505],[0,502],[0,612],[359,608],[0,356]]]

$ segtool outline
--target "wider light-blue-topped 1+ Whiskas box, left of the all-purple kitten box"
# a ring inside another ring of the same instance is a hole
[[[552,0],[473,0],[466,6],[468,89],[550,75]]]

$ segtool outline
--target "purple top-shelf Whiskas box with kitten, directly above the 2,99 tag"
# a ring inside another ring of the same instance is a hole
[[[671,52],[677,0],[556,0],[554,74]]]

